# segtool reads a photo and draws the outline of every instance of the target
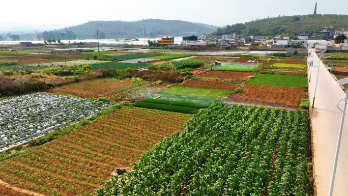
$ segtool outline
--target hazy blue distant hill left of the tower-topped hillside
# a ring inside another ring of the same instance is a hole
[[[217,27],[207,24],[192,23],[182,20],[146,19],[139,21],[89,21],[77,26],[60,29],[60,32],[72,31],[76,38],[97,38],[97,30],[104,32],[105,39],[112,38],[143,38],[163,35],[185,36],[212,33]]]

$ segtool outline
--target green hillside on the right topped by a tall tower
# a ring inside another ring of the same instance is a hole
[[[348,28],[348,15],[316,14],[282,16],[256,19],[251,22],[227,25],[211,35],[223,35],[238,32],[242,35],[299,35],[301,33],[319,34],[323,26],[333,25],[338,29]]]

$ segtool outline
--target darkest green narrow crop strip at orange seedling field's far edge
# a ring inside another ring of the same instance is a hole
[[[146,108],[152,108],[152,109],[162,109],[166,111],[176,111],[179,113],[188,113],[188,114],[198,113],[198,109],[194,107],[170,105],[170,104],[162,104],[162,103],[152,103],[152,102],[144,102],[144,101],[137,101],[134,103],[134,106],[146,107]]]

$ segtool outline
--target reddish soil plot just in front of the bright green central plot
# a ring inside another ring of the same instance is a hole
[[[199,77],[233,78],[234,81],[241,81],[243,79],[248,79],[248,76],[253,76],[254,74],[253,72],[243,71],[210,71],[199,75]]]

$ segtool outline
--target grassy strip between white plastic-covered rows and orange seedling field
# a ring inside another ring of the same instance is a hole
[[[102,99],[96,99],[96,100],[100,100],[100,101],[107,101],[107,100],[102,100]],[[120,103],[118,103],[117,105],[114,105],[113,107],[109,107],[103,111],[101,111],[98,115],[90,118],[89,120],[83,120],[79,123],[70,125],[68,128],[63,129],[63,130],[56,130],[53,132],[48,133],[45,136],[33,139],[30,143],[28,147],[24,147],[21,150],[12,152],[11,154],[9,153],[0,153],[0,161],[4,161],[7,160],[9,158],[15,157],[17,155],[21,155],[24,154],[25,152],[31,150],[32,148],[36,148],[37,146],[41,146],[43,144],[46,144],[50,141],[52,141],[53,139],[59,138],[61,136],[64,136],[68,133],[70,133],[71,131],[78,129],[80,127],[83,127],[85,125],[90,124],[92,121],[99,119],[101,117],[104,117],[110,113],[112,113],[113,111],[119,110],[120,108],[122,108],[123,106],[131,106],[131,103],[129,103],[128,101],[122,101]]]

